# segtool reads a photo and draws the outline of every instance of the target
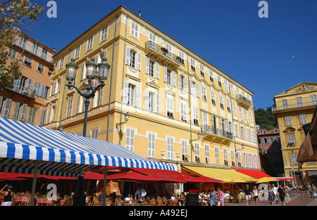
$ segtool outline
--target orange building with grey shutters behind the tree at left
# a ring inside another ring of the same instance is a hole
[[[0,117],[44,124],[55,53],[25,33],[15,37],[13,47],[8,48],[7,63],[19,60],[22,76],[15,80],[13,88],[0,93]]]

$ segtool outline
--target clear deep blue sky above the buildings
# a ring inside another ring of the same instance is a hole
[[[259,1],[56,0],[57,18],[46,7],[25,32],[60,51],[122,4],[246,86],[254,108],[266,109],[275,94],[317,82],[317,1],[267,0],[268,18],[259,18]]]

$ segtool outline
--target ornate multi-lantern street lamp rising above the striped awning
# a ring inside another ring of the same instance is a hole
[[[87,68],[87,91],[82,93],[80,89],[72,84],[73,80],[75,79],[75,75],[77,73],[78,66],[75,63],[75,59],[71,59],[70,63],[66,64],[66,79],[68,80],[68,89],[75,88],[76,91],[80,94],[80,96],[85,97],[85,120],[84,120],[84,129],[82,131],[82,136],[86,136],[86,129],[87,129],[87,115],[88,115],[88,106],[89,106],[89,98],[94,97],[94,94],[99,89],[99,87],[104,87],[104,81],[108,77],[108,72],[110,69],[110,65],[106,62],[106,58],[101,59],[101,63],[98,65],[94,63],[94,58],[91,58],[89,62],[86,63]],[[97,67],[99,70],[99,74],[97,74]],[[100,79],[100,84],[98,84],[98,80]],[[92,92],[90,92],[92,91]]]

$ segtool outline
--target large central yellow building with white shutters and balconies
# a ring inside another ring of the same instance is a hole
[[[84,100],[65,86],[66,63],[75,58],[75,86],[85,92],[85,63],[102,57],[111,68],[90,100],[88,137],[179,171],[182,165],[261,169],[254,93],[124,6],[54,56],[46,127],[82,134]]]

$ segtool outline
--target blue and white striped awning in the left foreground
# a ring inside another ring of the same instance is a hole
[[[96,166],[167,169],[121,145],[0,118],[0,172],[76,176]]]

